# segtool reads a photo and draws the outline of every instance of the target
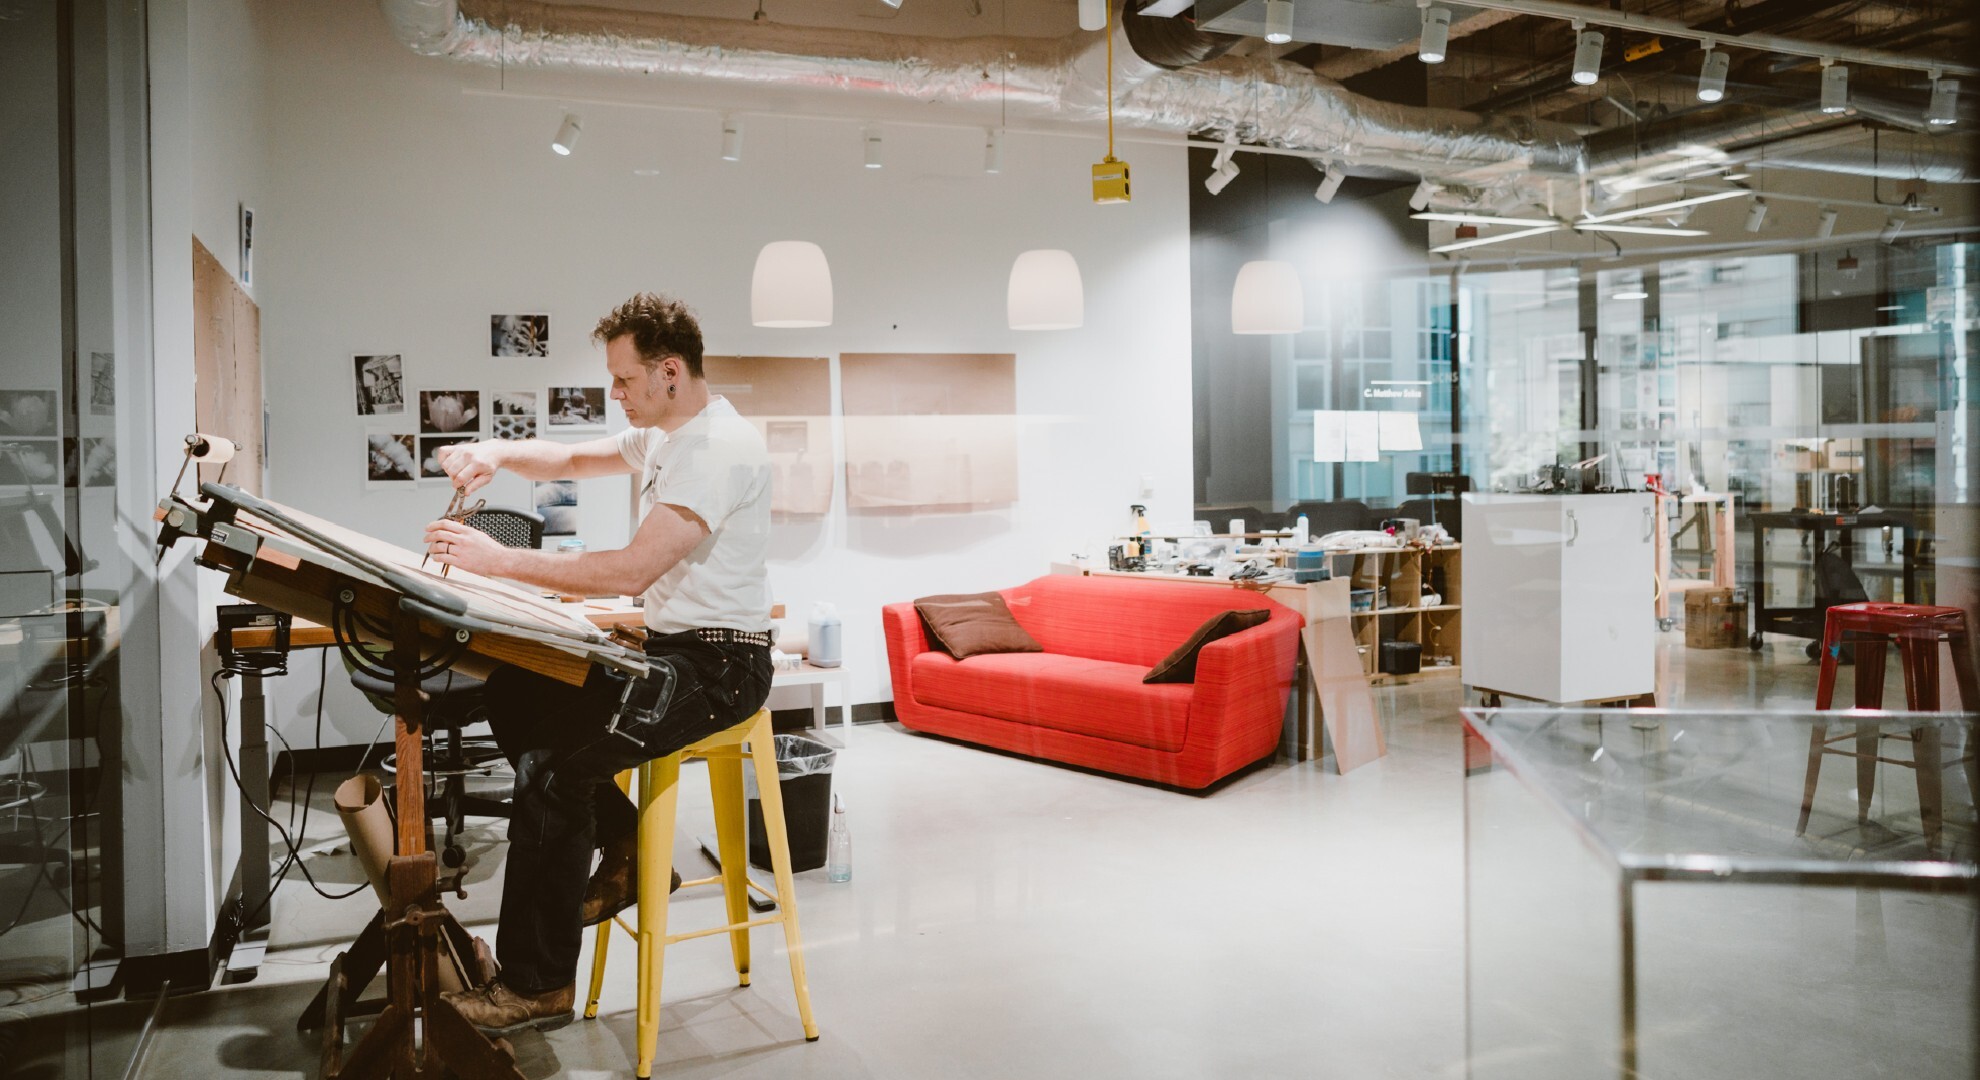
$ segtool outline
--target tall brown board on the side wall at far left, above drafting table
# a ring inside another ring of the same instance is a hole
[[[230,438],[240,452],[226,482],[261,493],[261,309],[220,260],[192,240],[192,422]],[[200,482],[220,466],[200,466]]]

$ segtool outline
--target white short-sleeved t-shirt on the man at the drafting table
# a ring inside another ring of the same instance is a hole
[[[620,456],[640,470],[640,521],[677,505],[709,535],[645,591],[645,624],[659,634],[697,626],[770,628],[770,452],[756,426],[715,396],[673,434],[628,428]]]

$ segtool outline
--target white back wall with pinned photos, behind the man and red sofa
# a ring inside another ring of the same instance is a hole
[[[590,325],[626,295],[659,289],[699,311],[711,355],[1018,355],[1016,505],[865,517],[843,511],[842,487],[830,517],[778,533],[776,598],[798,614],[814,600],[840,606],[853,702],[891,698],[881,604],[1028,581],[1125,527],[1131,501],[1188,519],[1180,149],[1127,147],[1127,206],[1089,202],[1097,127],[1077,139],[1012,135],[1004,172],[986,176],[972,127],[885,125],[887,166],[865,170],[855,121],[744,115],[742,161],[723,162],[713,111],[590,103],[576,105],[576,155],[560,159],[548,151],[558,101],[481,93],[501,85],[497,71],[412,55],[370,4],[265,2],[255,14],[269,46],[271,174],[255,275],[277,499],[414,545],[447,491],[364,489],[350,355],[404,355],[412,386],[598,384]],[[675,93],[638,79],[566,85],[655,105]],[[832,327],[748,325],[756,250],[784,238],[830,256]],[[1079,258],[1083,329],[1004,325],[1006,275],[1026,248]],[[552,313],[550,359],[487,359],[487,317],[501,311]],[[614,422],[624,422],[616,410]],[[523,501],[523,487],[507,480],[489,495]],[[626,489],[586,484],[582,535],[594,547],[624,543]],[[291,739],[307,731],[311,682],[291,676],[281,690]],[[327,723],[327,743],[362,741],[376,713],[333,690]]]

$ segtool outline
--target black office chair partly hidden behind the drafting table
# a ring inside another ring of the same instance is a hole
[[[527,509],[487,507],[469,515],[465,525],[495,537],[503,547],[543,547],[543,515]],[[380,711],[392,711],[396,688],[390,682],[350,672],[350,686],[364,692]],[[507,799],[489,799],[467,791],[467,777],[495,775],[507,765],[493,739],[461,737],[463,727],[483,719],[481,688],[481,680],[459,672],[440,672],[420,682],[428,709],[428,725],[422,735],[426,739],[426,775],[440,785],[440,793],[428,799],[426,809],[430,816],[447,822],[446,840],[440,844],[440,862],[449,870],[467,862],[467,850],[459,842],[467,816],[511,816]],[[444,747],[436,747],[436,733],[444,735]],[[398,755],[388,755],[384,769],[396,773]]]

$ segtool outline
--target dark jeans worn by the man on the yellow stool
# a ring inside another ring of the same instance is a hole
[[[657,721],[622,723],[618,733],[606,733],[606,723],[618,709],[620,684],[600,668],[582,688],[521,668],[489,676],[489,723],[515,765],[495,955],[503,983],[519,993],[568,987],[578,975],[578,912],[592,852],[630,842],[640,828],[638,810],[612,777],[735,727],[770,696],[764,646],[665,634],[647,638],[645,652],[655,666],[673,668],[673,698]]]

